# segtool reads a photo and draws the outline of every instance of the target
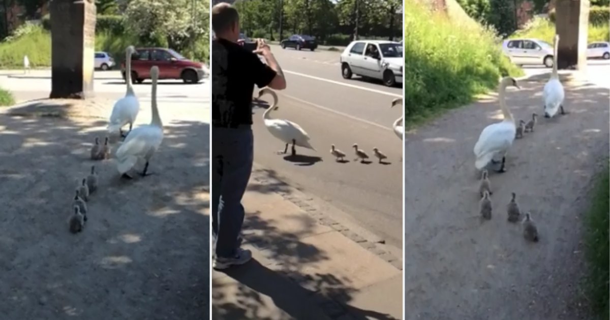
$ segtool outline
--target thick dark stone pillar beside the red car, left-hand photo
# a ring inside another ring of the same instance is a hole
[[[93,0],[52,0],[51,99],[93,96],[95,3]]]

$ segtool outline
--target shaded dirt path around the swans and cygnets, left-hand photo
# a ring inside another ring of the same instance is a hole
[[[26,112],[23,110],[17,113]],[[208,125],[167,121],[156,175],[121,182],[89,160],[106,121],[0,113],[3,319],[201,319],[209,312]],[[113,151],[116,146],[113,146]],[[95,165],[82,233],[77,182]]]

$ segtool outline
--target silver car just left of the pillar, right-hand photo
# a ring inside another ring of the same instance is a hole
[[[553,66],[553,45],[540,39],[508,39],[502,51],[515,65]]]

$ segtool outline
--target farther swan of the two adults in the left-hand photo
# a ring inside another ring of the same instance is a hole
[[[121,137],[126,137],[123,134],[123,126],[129,124],[129,131],[131,132],[134,126],[135,118],[138,116],[140,111],[140,102],[135,96],[134,87],[131,85],[131,55],[134,54],[134,46],[128,46],[125,52],[125,82],[127,83],[127,93],[121,99],[115,102],[112,108],[112,114],[110,115],[110,124],[108,125],[108,132],[112,135],[119,133]]]

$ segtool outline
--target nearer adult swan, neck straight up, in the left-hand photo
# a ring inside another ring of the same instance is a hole
[[[152,120],[150,124],[139,126],[132,130],[123,141],[117,154],[117,169],[123,177],[131,179],[127,171],[132,169],[138,160],[145,160],[146,165],[142,176],[151,174],[148,172],[148,162],[152,155],[157,151],[163,141],[163,123],[157,109],[157,79],[159,79],[159,67],[152,66],[152,94],[151,94],[151,110]]]

